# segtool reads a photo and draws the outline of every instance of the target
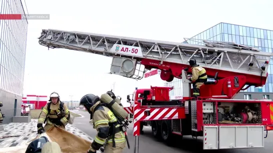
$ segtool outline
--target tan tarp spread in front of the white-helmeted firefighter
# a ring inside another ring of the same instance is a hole
[[[63,153],[86,153],[91,145],[91,142],[58,127],[49,129],[39,137],[42,136],[47,137],[49,141],[58,143]],[[29,144],[2,148],[0,153],[25,153]]]

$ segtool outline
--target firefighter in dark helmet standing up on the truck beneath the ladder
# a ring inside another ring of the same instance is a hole
[[[207,81],[206,70],[196,64],[196,60],[191,58],[189,60],[191,67],[192,77],[188,77],[193,84],[193,97],[197,99],[200,96],[200,87]]]

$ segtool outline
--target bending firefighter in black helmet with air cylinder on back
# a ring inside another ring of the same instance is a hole
[[[106,99],[107,102],[102,102],[101,99]],[[126,147],[122,126],[116,115],[109,109],[115,102],[108,94],[103,94],[101,98],[87,94],[80,100],[80,105],[83,105],[90,113],[93,127],[98,132],[88,153],[96,153],[104,145],[104,153],[122,153]]]

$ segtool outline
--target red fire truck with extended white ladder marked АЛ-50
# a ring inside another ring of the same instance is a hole
[[[162,96],[170,90],[163,87],[134,93],[134,106],[125,110],[133,113],[136,148],[141,123],[147,121],[154,136],[167,143],[173,135],[203,137],[204,150],[263,148],[264,131],[273,130],[271,100],[233,99],[239,91],[265,84],[272,53],[232,42],[198,40],[200,45],[192,45],[54,29],[42,30],[39,43],[113,57],[112,74],[142,79],[155,68],[161,70],[162,80],[182,79],[182,100]],[[191,82],[186,79],[191,74],[190,58],[213,79],[201,86],[197,99],[192,98]]]

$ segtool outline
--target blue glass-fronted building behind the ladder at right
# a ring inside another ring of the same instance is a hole
[[[235,25],[229,23],[219,23],[193,37],[183,43],[201,44],[202,40],[214,41],[229,41],[236,44],[247,45],[259,48],[264,52],[272,52],[273,50],[273,31],[255,27],[248,27],[242,25]],[[175,90],[170,92],[170,95],[182,95],[181,79],[175,78],[172,82],[165,82],[166,86],[174,86]],[[263,87],[254,88],[251,86],[246,91],[242,91],[244,99],[245,95],[254,93],[268,93],[267,95],[260,96],[268,97],[273,92],[273,60],[270,59],[268,67],[268,78]],[[247,94],[248,93],[248,94]],[[270,96],[271,97],[271,96]],[[273,95],[272,95],[273,97]],[[258,97],[257,97],[258,98]],[[251,98],[250,98],[251,99]]]

